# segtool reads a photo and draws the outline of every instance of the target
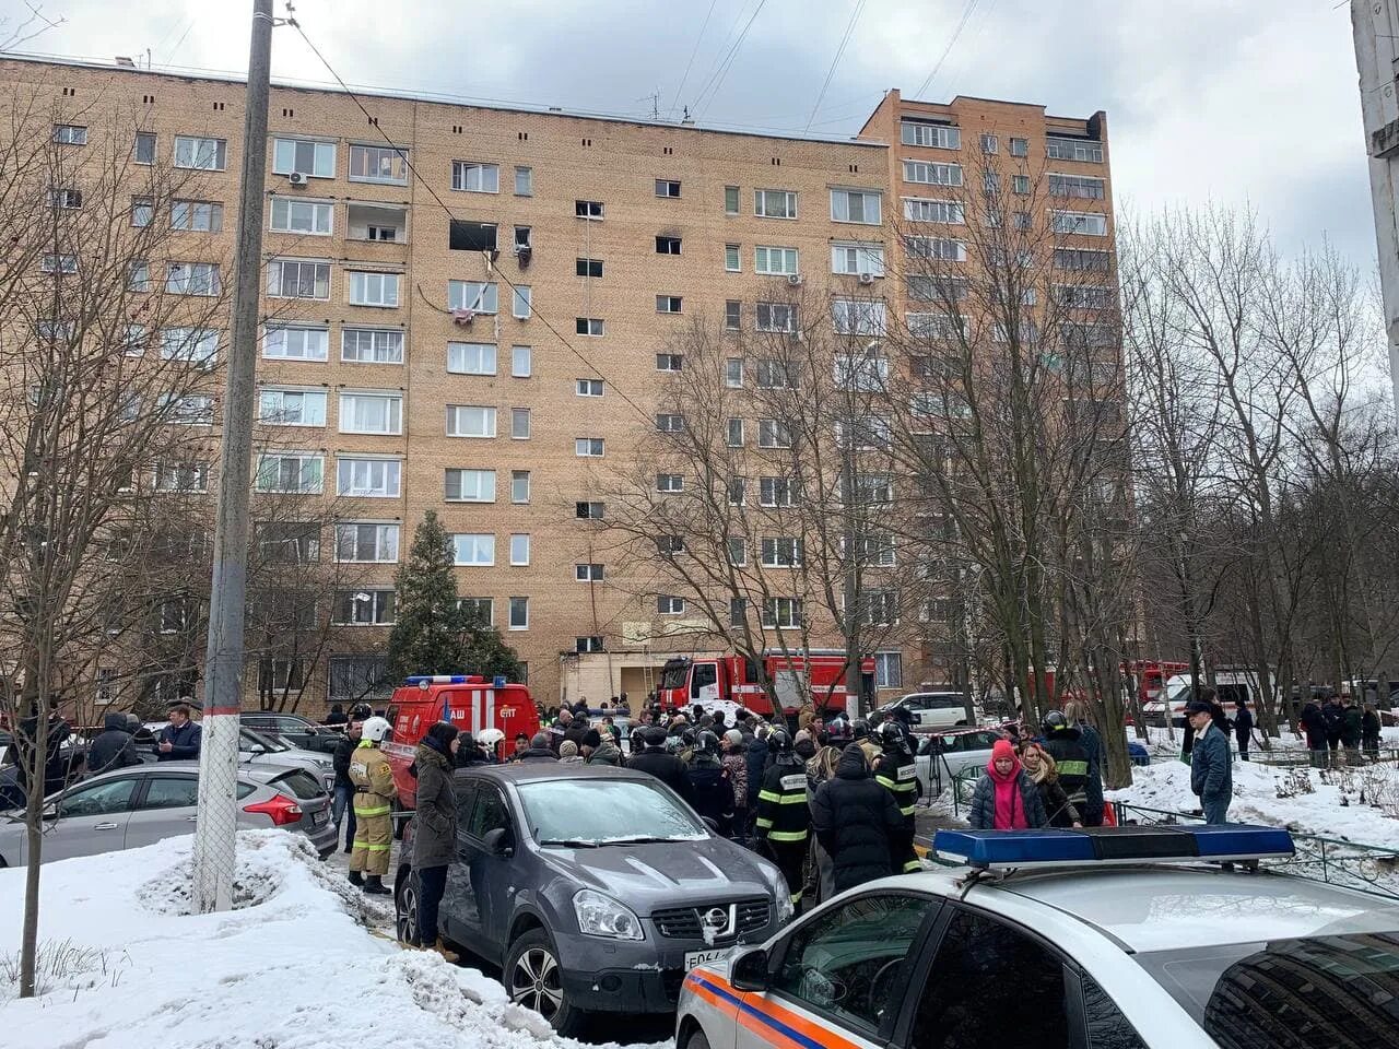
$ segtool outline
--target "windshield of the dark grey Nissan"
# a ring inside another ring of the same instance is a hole
[[[519,785],[540,845],[693,842],[704,825],[659,786],[637,779],[547,779]]]

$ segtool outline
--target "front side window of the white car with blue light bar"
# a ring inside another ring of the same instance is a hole
[[[790,937],[772,990],[873,1039],[888,1013],[898,1011],[904,969],[912,968],[909,952],[923,918],[935,906],[923,897],[883,892],[828,911]],[[846,994],[848,987],[866,992]],[[957,1031],[957,1045],[963,1045],[960,1028],[946,1031],[949,1035]]]

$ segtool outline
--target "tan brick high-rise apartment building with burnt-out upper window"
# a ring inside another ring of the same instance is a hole
[[[0,74],[74,124],[130,134],[139,158],[201,169],[208,199],[172,221],[231,257],[241,83],[76,62],[4,60]],[[270,105],[259,436],[276,450],[255,487],[333,501],[319,550],[364,568],[323,594],[354,643],[274,669],[309,680],[311,709],[374,676],[393,575],[428,509],[453,537],[459,593],[537,697],[645,694],[672,648],[655,621],[684,608],[596,579],[579,519],[604,512],[602,478],[646,439],[683,366],[662,352],[677,326],[751,323],[751,304],[796,278],[837,301],[869,283],[852,259],[881,260],[891,211],[932,197],[928,179],[951,178],[947,158],[988,136],[1098,179],[1086,210],[1111,200],[1101,113],[891,91],[859,137],[832,141],[360,101],[368,117],[343,92],[274,84]],[[880,285],[890,311],[908,308],[895,281]],[[942,673],[915,641],[877,653],[874,684]]]

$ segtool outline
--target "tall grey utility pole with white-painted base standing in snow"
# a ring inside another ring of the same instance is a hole
[[[263,186],[273,0],[253,0],[248,53],[248,115],[234,256],[234,324],[224,386],[214,582],[204,659],[204,723],[194,829],[194,905],[200,913],[232,906],[238,831],[238,712],[243,687],[243,601],[248,590],[248,501],[252,487],[257,299],[262,291]]]

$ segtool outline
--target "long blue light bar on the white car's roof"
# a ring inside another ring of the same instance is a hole
[[[1259,860],[1294,853],[1293,836],[1276,827],[1087,827],[1081,831],[939,831],[943,859],[982,870],[1032,870],[1196,860]]]

